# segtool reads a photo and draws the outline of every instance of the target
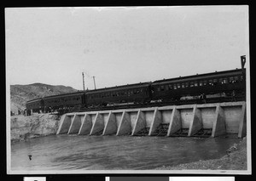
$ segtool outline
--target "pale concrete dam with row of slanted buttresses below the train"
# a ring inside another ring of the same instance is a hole
[[[240,101],[67,113],[56,134],[242,138],[246,126],[246,102]]]

